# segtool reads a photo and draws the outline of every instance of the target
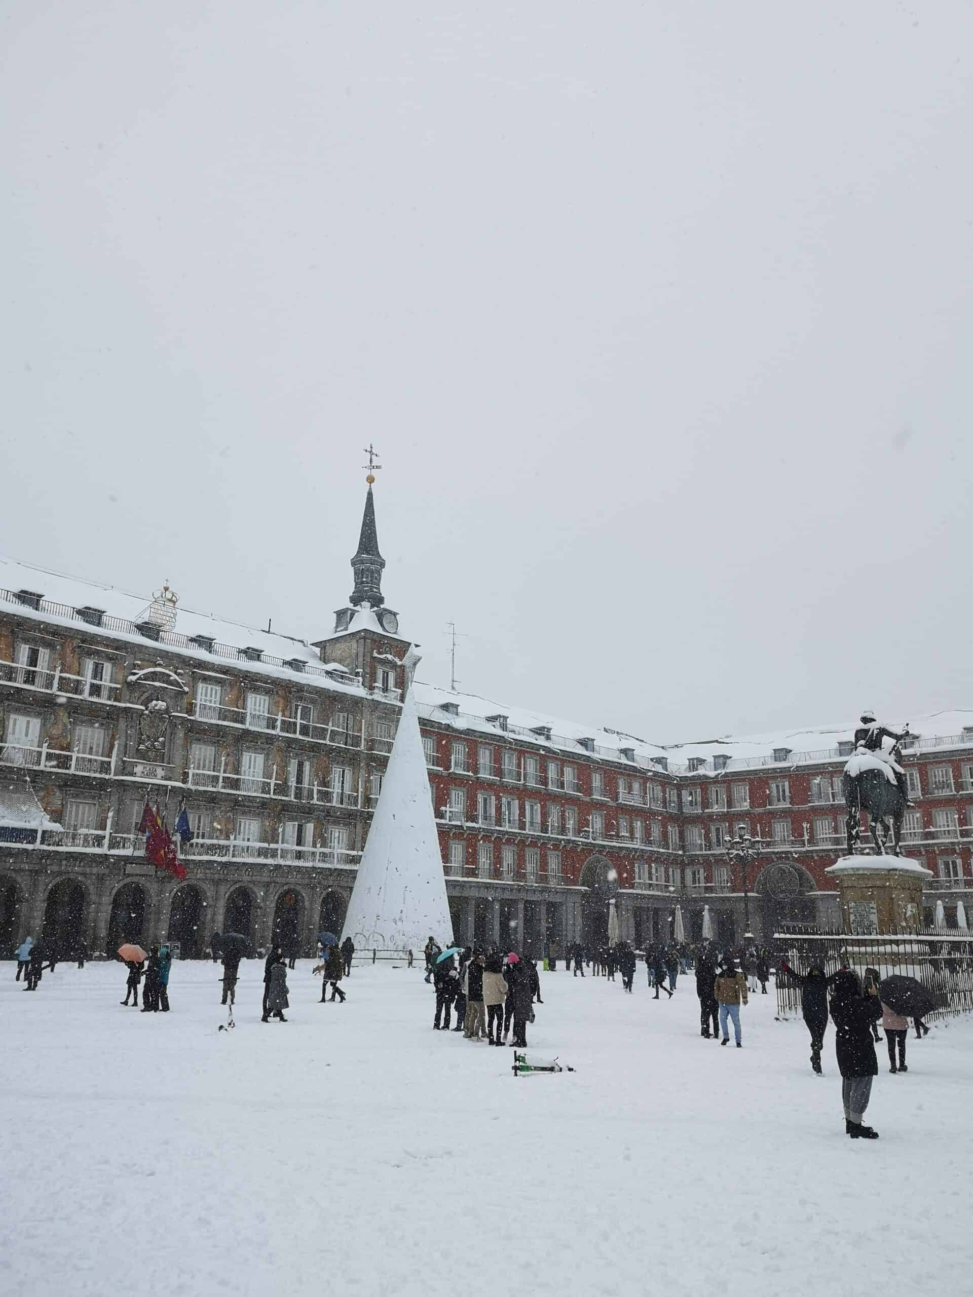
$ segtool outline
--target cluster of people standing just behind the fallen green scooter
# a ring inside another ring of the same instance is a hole
[[[535,999],[541,1000],[541,979],[533,960],[510,951],[503,955],[497,947],[484,952],[467,946],[463,951],[440,949],[429,938],[426,946],[426,981],[436,988],[436,1014],[433,1031],[449,1031],[453,1009],[457,1025],[466,1040],[486,1040],[490,1045],[505,1045],[510,1040],[516,1048],[527,1047],[527,1023],[533,1021]]]

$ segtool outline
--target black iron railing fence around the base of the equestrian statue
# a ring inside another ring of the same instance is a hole
[[[798,973],[819,964],[825,973],[854,969],[864,977],[874,969],[880,978],[899,973],[921,982],[938,1008],[928,1017],[946,1018],[973,1012],[973,933],[920,927],[881,934],[842,933],[795,923],[775,933],[775,952]],[[800,1014],[800,987],[777,978],[777,1013]]]

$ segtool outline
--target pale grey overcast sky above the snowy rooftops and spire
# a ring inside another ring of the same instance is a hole
[[[0,550],[708,738],[973,706],[973,9],[23,0]]]

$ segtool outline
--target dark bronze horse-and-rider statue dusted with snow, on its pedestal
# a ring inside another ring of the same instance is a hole
[[[893,855],[902,855],[902,820],[909,800],[906,772],[898,761],[898,744],[907,734],[908,725],[898,734],[880,725],[872,712],[861,715],[861,728],[855,730],[855,755],[845,767],[842,777],[845,805],[848,808],[845,829],[850,856],[861,839],[863,811],[868,812],[876,851],[886,855],[891,833]],[[890,748],[885,747],[886,738],[893,741]]]

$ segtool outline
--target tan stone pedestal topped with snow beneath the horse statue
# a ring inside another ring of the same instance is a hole
[[[838,886],[846,933],[900,933],[922,926],[922,888],[933,877],[904,856],[845,856],[825,869]]]

